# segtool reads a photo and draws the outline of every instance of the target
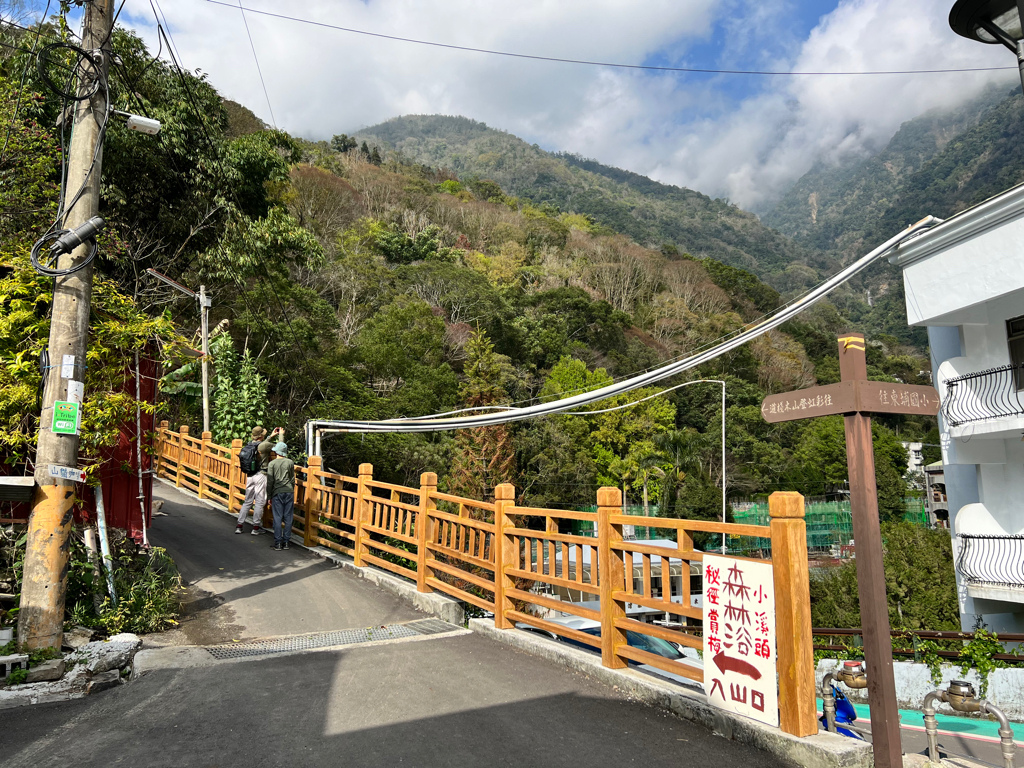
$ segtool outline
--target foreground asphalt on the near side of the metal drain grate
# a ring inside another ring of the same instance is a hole
[[[475,635],[159,670],[0,711],[0,764],[780,765]]]

